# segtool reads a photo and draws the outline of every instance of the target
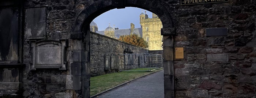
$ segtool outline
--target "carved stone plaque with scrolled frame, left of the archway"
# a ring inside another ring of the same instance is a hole
[[[66,70],[65,56],[66,40],[31,41],[32,59],[30,70],[36,68],[59,68]]]

